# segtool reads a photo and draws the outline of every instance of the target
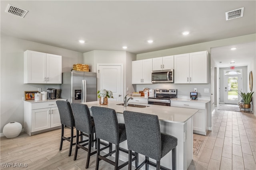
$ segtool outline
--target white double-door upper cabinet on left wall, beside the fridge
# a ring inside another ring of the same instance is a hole
[[[24,52],[24,83],[61,84],[62,56]]]

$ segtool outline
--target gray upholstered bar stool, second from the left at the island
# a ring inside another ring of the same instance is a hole
[[[71,107],[72,107],[74,119],[76,122],[76,135],[77,136],[79,135],[79,131],[80,133],[88,134],[87,140],[84,140],[84,141],[81,140],[79,142],[79,138],[76,138],[76,151],[74,154],[74,160],[76,160],[77,152],[79,148],[86,150],[88,153],[87,153],[85,168],[87,169],[90,163],[90,156],[97,153],[97,150],[95,150],[94,152],[91,152],[92,142],[96,141],[93,139],[94,137],[93,134],[95,133],[94,121],[93,119],[91,119],[90,110],[87,105],[80,104],[80,103],[72,103]],[[84,143],[84,144],[80,144],[80,143]],[[88,145],[88,148],[85,147],[86,145]]]

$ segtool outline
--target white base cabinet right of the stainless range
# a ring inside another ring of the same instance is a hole
[[[193,132],[206,135],[208,131],[208,107],[206,103],[171,100],[171,106],[199,109],[199,111],[193,116]]]

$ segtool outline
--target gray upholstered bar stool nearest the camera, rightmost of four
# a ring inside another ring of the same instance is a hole
[[[124,122],[129,150],[129,170],[132,167],[132,151],[145,155],[145,160],[136,170],[140,169],[144,164],[146,165],[146,170],[148,170],[149,165],[156,167],[157,170],[169,170],[160,166],[160,159],[171,150],[172,170],[176,170],[177,139],[160,132],[157,115],[124,111]],[[156,160],[156,164],[149,161],[149,158]]]

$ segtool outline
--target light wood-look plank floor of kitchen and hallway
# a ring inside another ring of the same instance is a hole
[[[66,133],[69,132],[67,129]],[[193,155],[188,169],[256,169],[256,117],[252,113],[216,109],[212,113],[212,131],[206,136],[194,134],[194,138],[204,142],[199,154]],[[84,170],[87,152],[79,149],[77,160],[74,161],[74,147],[69,157],[68,142],[64,141],[61,151],[59,143],[60,129],[32,136],[21,133],[12,139],[1,137],[0,169]],[[6,168],[3,163],[23,163],[27,167]],[[96,155],[93,155],[88,170],[94,170],[95,163]],[[100,161],[99,169],[112,170],[114,166]],[[122,169],[128,169],[128,166]]]

